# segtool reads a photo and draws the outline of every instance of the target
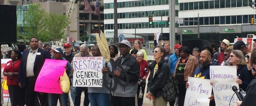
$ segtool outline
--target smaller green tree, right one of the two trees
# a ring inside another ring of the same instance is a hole
[[[62,39],[64,36],[64,31],[62,31],[65,27],[70,24],[70,21],[65,22],[66,15],[56,15],[51,12],[46,15],[45,18],[45,36],[47,36],[48,40],[58,41]]]

